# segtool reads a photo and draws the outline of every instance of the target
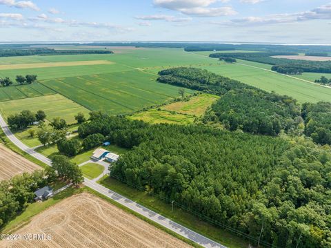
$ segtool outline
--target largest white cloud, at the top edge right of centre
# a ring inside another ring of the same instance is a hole
[[[185,15],[197,17],[221,17],[235,15],[236,11],[230,6],[210,7],[212,3],[226,3],[228,0],[154,0],[154,6],[176,10]]]

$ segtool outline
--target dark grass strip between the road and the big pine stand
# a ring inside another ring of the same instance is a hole
[[[232,248],[248,247],[248,243],[245,242],[245,240],[234,236],[232,233],[199,220],[196,216],[193,216],[191,213],[183,211],[182,209],[174,207],[174,211],[172,211],[170,204],[159,200],[159,198],[155,196],[148,195],[148,193],[144,191],[138,191],[137,189],[128,187],[128,185],[123,184],[114,178],[105,176],[99,180],[99,183],[164,217],[169,218],[170,220],[174,220],[211,240],[221,243],[222,245]]]

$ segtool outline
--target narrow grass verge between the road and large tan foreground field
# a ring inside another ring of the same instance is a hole
[[[179,240],[182,240],[183,242],[186,242],[189,245],[192,245],[192,247],[201,247],[196,242],[193,242],[192,240],[189,240],[188,238],[184,238],[183,236],[175,233],[174,231],[171,231],[168,228],[165,228],[165,227],[157,224],[156,222],[146,218],[145,216],[141,216],[139,213],[136,213],[136,212],[132,211],[131,209],[128,209],[127,207],[124,207],[122,204],[119,204],[118,202],[112,200],[111,198],[108,198],[106,195],[103,195],[103,194],[101,194],[97,191],[94,191],[94,189],[84,187],[83,190],[87,191],[88,193],[92,193],[94,195],[97,195],[99,198],[102,198],[103,200],[106,200],[107,202],[110,202],[111,204],[118,207],[119,209],[122,209],[123,211],[126,211],[127,213],[131,213],[134,216],[140,218],[141,220],[144,220],[144,221],[148,222],[150,225],[153,225],[154,227],[157,227],[158,229],[161,229],[162,231],[165,231],[166,233],[170,234],[171,236],[174,236],[175,238],[178,238]]]

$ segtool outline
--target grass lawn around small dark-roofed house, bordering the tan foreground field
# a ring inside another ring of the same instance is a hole
[[[61,184],[61,183],[60,183]],[[57,187],[57,185],[54,185],[54,187]],[[3,227],[3,229],[0,230],[0,233],[14,233],[14,231],[17,231],[21,227],[28,225],[30,220],[33,216],[36,216],[38,213],[41,213],[42,211],[48,209],[49,207],[52,207],[54,204],[57,204],[57,202],[70,197],[71,195],[74,195],[75,193],[80,193],[81,189],[69,187],[68,189],[65,189],[64,191],[61,191],[57,195],[54,195],[54,197],[43,201],[43,202],[33,202],[28,204],[28,207],[26,207],[26,210],[23,211],[19,216],[8,222],[8,224]]]

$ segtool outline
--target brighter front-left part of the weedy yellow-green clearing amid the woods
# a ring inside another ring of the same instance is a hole
[[[174,111],[165,111],[162,109],[150,109],[148,111],[136,113],[128,116],[130,120],[142,120],[150,124],[168,123],[187,125],[194,122],[195,117],[192,115],[185,115],[176,113]]]

